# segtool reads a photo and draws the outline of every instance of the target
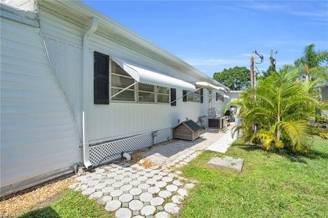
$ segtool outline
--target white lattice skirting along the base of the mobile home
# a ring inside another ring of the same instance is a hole
[[[90,161],[94,165],[99,165],[100,163],[120,158],[122,152],[141,150],[142,148],[167,141],[167,138],[173,138],[173,130],[171,128],[108,141],[103,144],[90,145]]]

